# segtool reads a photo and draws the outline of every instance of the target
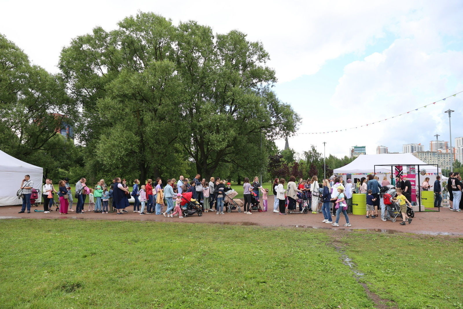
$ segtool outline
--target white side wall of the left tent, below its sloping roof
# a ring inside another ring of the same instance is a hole
[[[2,180],[2,185],[0,186],[0,206],[20,205],[23,203],[16,196],[16,192],[21,187],[21,181],[25,175],[31,176],[34,189],[42,191],[43,173],[0,170],[0,179]]]

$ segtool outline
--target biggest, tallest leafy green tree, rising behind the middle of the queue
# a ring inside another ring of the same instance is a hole
[[[243,33],[154,13],[118,25],[75,38],[60,58],[82,107],[77,131],[96,154],[88,164],[138,170],[142,181],[190,164],[204,177],[222,164],[259,171],[267,145],[298,125],[271,91],[268,53]]]

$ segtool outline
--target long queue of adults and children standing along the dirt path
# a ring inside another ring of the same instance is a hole
[[[288,211],[296,211],[299,206],[299,211],[302,212],[303,208],[313,214],[323,214],[323,222],[330,223],[333,226],[339,226],[340,215],[343,214],[346,223],[344,226],[350,227],[349,216],[352,214],[352,194],[363,193],[367,195],[367,215],[366,218],[377,218],[380,216],[381,220],[386,221],[389,219],[386,205],[380,195],[381,187],[393,185],[397,192],[403,198],[399,198],[400,206],[409,204],[411,206],[411,183],[407,177],[399,177],[390,179],[384,177],[380,183],[377,176],[367,175],[367,177],[355,178],[352,183],[348,178],[345,182],[342,177],[333,175],[329,179],[323,179],[321,183],[318,181],[317,176],[304,180],[302,178],[296,182],[294,176],[289,178],[285,186],[285,179],[275,178],[272,191],[274,195],[273,212],[285,215]],[[461,211],[459,205],[462,202],[461,195],[463,185],[459,173],[451,173],[450,179],[447,184],[450,192],[450,209],[454,211]],[[30,213],[31,202],[31,189],[33,182],[28,175],[23,179],[20,189],[23,193],[23,205],[19,213]],[[436,194],[435,206],[441,207],[442,189],[440,184],[440,177],[437,177],[434,185],[429,184],[429,177],[421,184],[422,190],[434,189]],[[251,194],[261,202],[263,211],[268,210],[267,199],[269,189],[263,188],[259,182],[259,178],[255,177],[254,181],[250,183],[249,178],[244,178],[244,214],[252,214]],[[192,197],[200,202],[202,210],[207,213],[214,211],[216,214],[224,213],[224,200],[225,194],[233,190],[231,183],[225,183],[220,178],[211,177],[209,181],[201,178],[197,174],[191,181],[183,176],[179,177],[176,181],[175,178],[168,179],[167,184],[163,185],[161,178],[157,178],[155,182],[148,179],[145,184],[140,185],[140,181],[135,179],[133,181],[133,188],[130,191],[127,181],[116,177],[110,184],[106,184],[104,179],[101,179],[93,187],[87,185],[87,179],[81,178],[75,184],[75,192],[71,191],[68,178],[63,178],[58,183],[58,190],[53,186],[51,179],[46,179],[42,187],[42,197],[44,200],[44,212],[48,213],[54,203],[53,195],[56,193],[59,199],[59,207],[56,206],[56,211],[59,210],[60,214],[68,214],[74,212],[76,214],[84,214],[87,211],[94,211],[97,213],[108,214],[115,212],[116,214],[125,214],[129,212],[130,203],[129,199],[133,197],[133,212],[140,215],[155,214],[163,215],[165,217],[172,217],[179,215],[179,204],[181,202],[181,194],[192,192]],[[262,198],[261,198],[262,194]],[[84,205],[88,196],[88,209],[85,210]],[[73,202],[76,201],[75,210]],[[145,212],[146,210],[146,212]],[[176,211],[175,211],[176,210]],[[335,221],[332,217],[336,217]],[[405,220],[404,220],[405,221]],[[409,223],[411,222],[410,220]]]

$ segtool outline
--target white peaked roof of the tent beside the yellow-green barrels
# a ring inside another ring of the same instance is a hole
[[[402,165],[404,166],[404,171],[407,169],[405,165],[419,165],[419,170],[425,169],[426,173],[437,173],[439,171],[436,166],[427,165],[425,162],[421,161],[419,158],[416,158],[411,153],[385,153],[385,154],[375,154],[375,155],[360,155],[354,161],[349,164],[335,169],[333,172],[335,174],[370,174],[376,173],[391,173],[390,166],[376,166],[379,164],[388,164],[388,165]],[[416,172],[418,173],[418,166],[415,166]],[[393,170],[394,171],[394,170]]]

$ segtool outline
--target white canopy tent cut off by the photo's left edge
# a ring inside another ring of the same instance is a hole
[[[44,169],[0,151],[0,206],[22,204],[16,196],[25,175],[31,176],[34,188],[42,190]]]

